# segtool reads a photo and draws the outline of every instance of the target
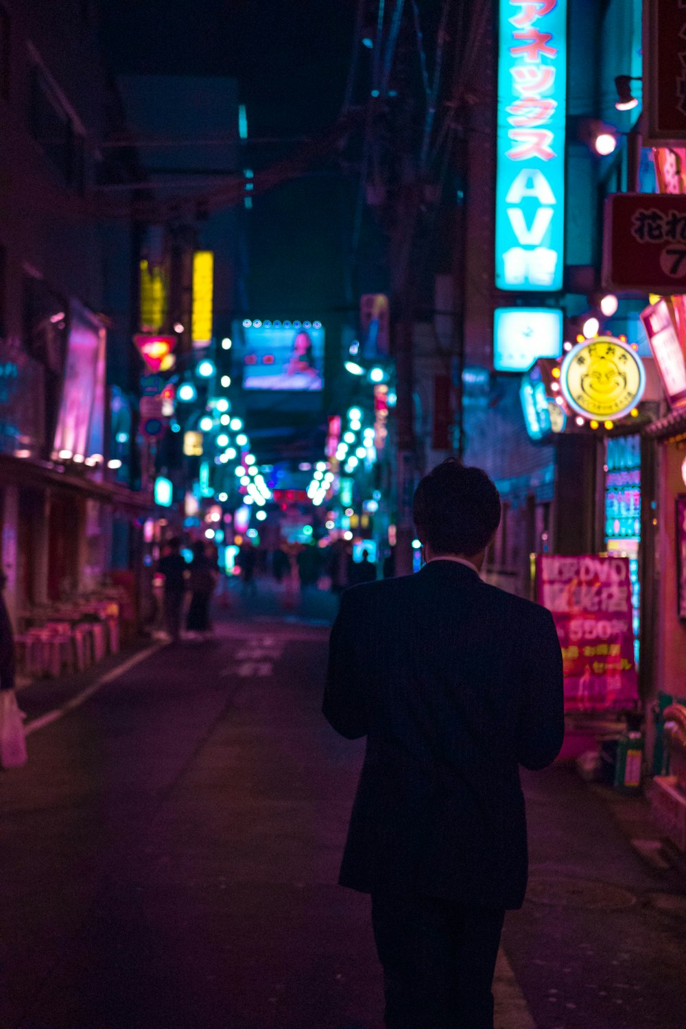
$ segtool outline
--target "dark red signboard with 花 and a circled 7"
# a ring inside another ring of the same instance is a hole
[[[603,285],[651,293],[686,292],[686,197],[607,198]]]

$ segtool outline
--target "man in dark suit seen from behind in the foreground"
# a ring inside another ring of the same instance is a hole
[[[438,465],[413,501],[426,566],[347,591],[331,632],[324,714],[367,737],[339,882],[371,894],[388,1029],[493,1029],[527,886],[518,766],[563,742],[550,612],[479,578],[500,512],[485,472]]]

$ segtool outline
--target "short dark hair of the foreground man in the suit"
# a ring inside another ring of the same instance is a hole
[[[500,525],[500,495],[481,468],[448,458],[417,487],[412,517],[434,554],[471,558],[489,545]]]

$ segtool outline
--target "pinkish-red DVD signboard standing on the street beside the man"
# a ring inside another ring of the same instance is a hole
[[[565,708],[606,711],[638,701],[628,558],[536,559],[539,603],[554,618],[565,668]]]

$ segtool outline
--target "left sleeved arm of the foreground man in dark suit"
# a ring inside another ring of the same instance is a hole
[[[322,711],[328,723],[347,740],[367,735],[367,705],[361,680],[350,599],[344,594],[331,629]]]

